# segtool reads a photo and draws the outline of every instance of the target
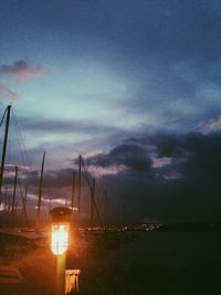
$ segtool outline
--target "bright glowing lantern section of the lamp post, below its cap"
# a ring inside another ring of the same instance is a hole
[[[52,224],[51,247],[55,255],[62,255],[67,250],[69,228],[69,224]]]

